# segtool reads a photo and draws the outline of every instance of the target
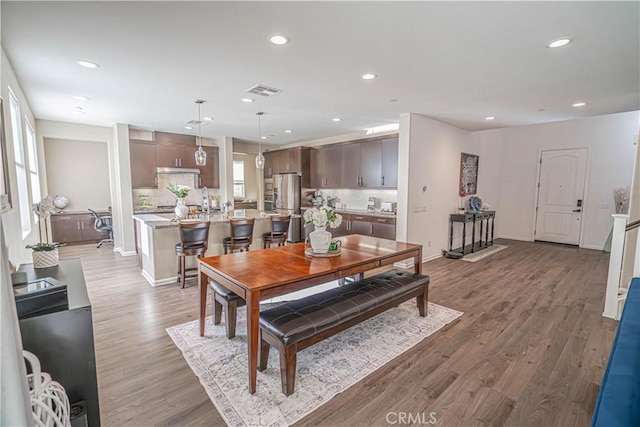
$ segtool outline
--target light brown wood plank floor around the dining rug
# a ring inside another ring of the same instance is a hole
[[[477,263],[426,263],[430,300],[464,315],[298,424],[589,425],[617,325],[601,316],[608,255],[499,243]],[[111,246],[62,256],[89,287],[103,425],[224,425],[165,332],[197,318],[195,282],[153,288]]]

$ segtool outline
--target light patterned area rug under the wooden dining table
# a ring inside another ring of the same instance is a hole
[[[257,391],[249,394],[245,310],[238,310],[236,337],[228,340],[224,323],[206,319],[167,329],[209,398],[230,426],[287,426],[318,409],[333,396],[461,316],[429,303],[420,317],[415,300],[360,323],[298,353],[295,392],[286,397],[280,384],[279,354],[272,348]],[[224,320],[223,320],[224,322]]]

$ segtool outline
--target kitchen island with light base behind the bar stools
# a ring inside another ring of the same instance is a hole
[[[236,217],[255,218],[253,243],[250,250],[262,249],[262,235],[271,231],[268,215],[258,210],[234,211]],[[300,217],[300,215],[292,215]],[[137,213],[133,215],[136,232],[136,252],[142,276],[152,286],[176,283],[178,279],[178,257],[175,245],[180,242],[178,223],[170,213]],[[198,216],[201,221],[209,221],[209,248],[206,256],[222,255],[222,239],[231,234],[229,217],[212,213]],[[196,267],[196,257],[187,257],[187,268]]]

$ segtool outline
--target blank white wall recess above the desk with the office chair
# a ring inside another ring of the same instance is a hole
[[[106,142],[44,138],[48,194],[69,198],[67,211],[111,206]]]

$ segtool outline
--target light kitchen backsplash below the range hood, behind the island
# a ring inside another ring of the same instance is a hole
[[[151,205],[151,207],[175,205],[176,197],[166,188],[170,182],[191,187],[191,191],[189,191],[189,195],[185,198],[185,202],[188,205],[200,205],[202,201],[202,189],[196,188],[196,179],[197,175],[193,173],[160,173],[158,174],[158,188],[133,190],[133,209],[140,209],[144,201]],[[219,193],[219,189],[217,188],[209,189],[209,195],[211,196],[218,195]]]

